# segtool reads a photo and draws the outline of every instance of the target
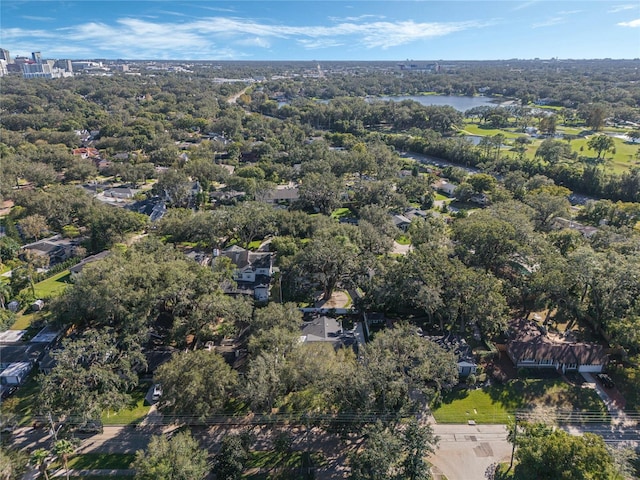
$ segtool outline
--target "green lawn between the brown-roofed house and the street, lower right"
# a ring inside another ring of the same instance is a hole
[[[536,407],[606,415],[604,404],[593,390],[560,378],[512,380],[484,389],[456,390],[444,396],[433,415],[439,423],[505,423],[515,410]]]

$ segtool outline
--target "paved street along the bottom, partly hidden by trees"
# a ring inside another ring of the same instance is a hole
[[[237,427],[233,427],[237,428]],[[232,428],[232,429],[233,429]],[[284,428],[284,427],[283,427]],[[153,434],[171,434],[175,426],[148,425],[132,428],[106,426],[104,433],[83,439],[78,453],[132,453],[147,446]],[[610,444],[640,444],[640,428],[636,424],[587,424],[570,425],[565,429],[574,435],[585,432],[597,433]],[[440,438],[439,448],[429,459],[448,480],[484,480],[487,467],[495,462],[507,461],[511,456],[511,444],[506,440],[504,425],[433,425],[434,433]],[[230,427],[218,426],[194,431],[202,445],[216,451],[220,440],[227,435]],[[258,450],[271,448],[270,430],[256,429]],[[323,451],[329,465],[318,472],[321,479],[341,479],[346,475],[346,457],[355,444],[345,444],[337,436],[314,429],[307,432],[304,428],[293,428],[294,448]],[[34,430],[31,427],[17,429],[13,443],[20,448],[49,448],[50,437],[45,429]]]

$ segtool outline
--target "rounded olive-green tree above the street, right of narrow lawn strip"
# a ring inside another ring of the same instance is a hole
[[[215,352],[175,354],[155,375],[162,384],[162,411],[204,418],[220,413],[234,391],[237,373]]]

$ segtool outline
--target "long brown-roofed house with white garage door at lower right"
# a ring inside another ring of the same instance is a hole
[[[511,325],[507,354],[516,367],[553,368],[562,373],[599,373],[608,361],[602,345],[552,337],[543,327],[525,319]]]

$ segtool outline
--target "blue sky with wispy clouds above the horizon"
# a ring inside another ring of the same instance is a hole
[[[0,47],[72,59],[638,58],[640,1],[2,0]]]

